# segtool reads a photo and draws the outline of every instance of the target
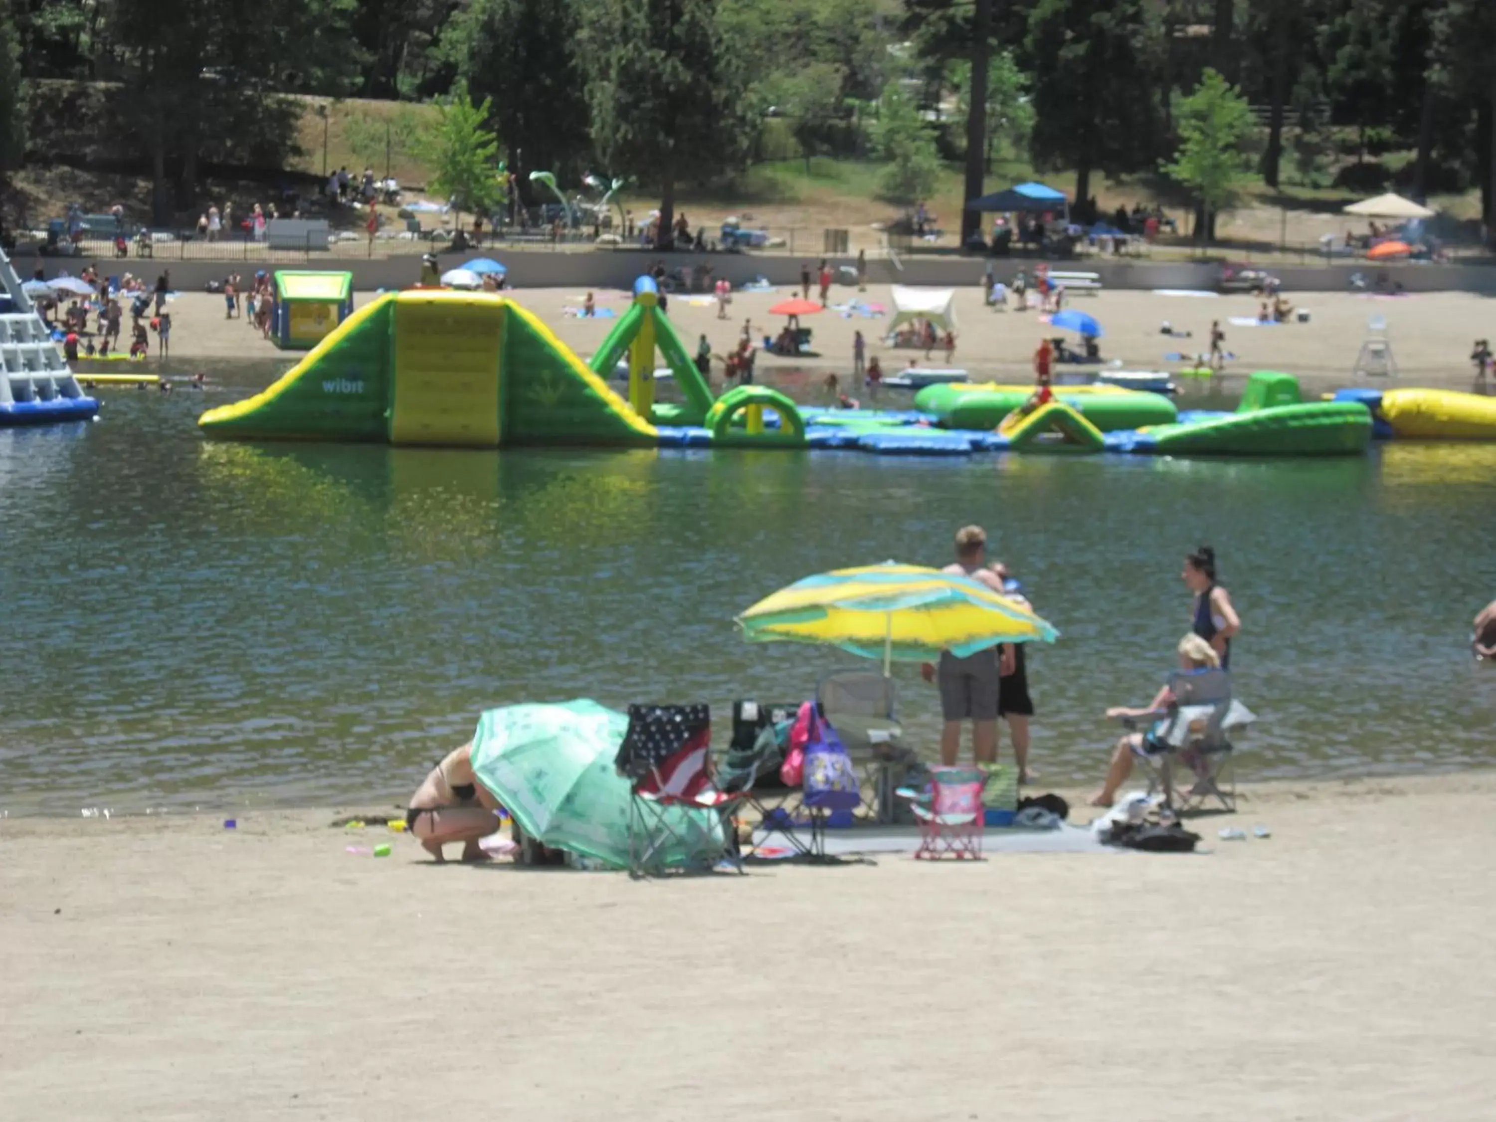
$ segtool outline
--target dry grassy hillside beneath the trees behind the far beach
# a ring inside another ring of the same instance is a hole
[[[67,156],[45,159],[45,151],[33,151],[31,163],[12,178],[7,212],[37,224],[46,217],[61,215],[70,202],[81,202],[91,211],[123,202],[144,220],[148,214],[148,183],[141,175],[97,171],[120,160],[120,136],[105,127],[109,91],[97,84],[40,82],[33,99],[33,148],[42,141],[48,151]],[[322,177],[335,168],[346,166],[353,174],[373,168],[377,175],[393,175],[407,190],[419,190],[429,181],[431,169],[420,159],[419,138],[435,117],[434,106],[364,99],[292,100],[301,112],[295,118],[295,153],[286,162],[286,172]],[[770,160],[711,188],[684,190],[679,206],[693,226],[712,229],[724,217],[736,215],[745,224],[769,229],[787,247],[806,256],[821,251],[826,229],[848,230],[854,248],[877,245],[878,230],[902,212],[878,197],[880,171],[878,163],[865,160]],[[268,188],[275,186],[277,178],[284,178],[284,174],[266,169],[242,177],[209,177],[202,196],[215,200],[268,197]],[[1070,172],[1037,174],[1026,159],[1007,156],[993,162],[987,188],[998,190],[1023,180],[1043,180],[1070,194],[1076,186]],[[1134,202],[1159,202],[1180,221],[1180,229],[1188,230],[1189,200],[1161,177],[1134,177],[1121,183],[1092,180],[1092,184],[1106,211]],[[1257,250],[1278,245],[1281,239],[1288,245],[1313,245],[1324,233],[1346,230],[1340,208],[1354,197],[1345,190],[1272,190],[1257,181],[1243,191],[1242,205],[1221,217],[1218,235]],[[1469,221],[1478,214],[1474,193],[1432,202],[1451,220]],[[625,196],[624,205],[642,220],[658,205],[658,199],[646,191],[633,191]],[[960,226],[960,206],[962,172],[959,166],[948,165],[928,200],[928,209],[945,232],[939,245],[953,245]],[[184,212],[180,220],[190,224],[194,215]]]

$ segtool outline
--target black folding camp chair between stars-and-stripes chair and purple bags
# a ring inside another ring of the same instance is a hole
[[[733,703],[733,738],[718,763],[717,779],[724,790],[741,790],[744,809],[751,811],[755,818],[742,847],[744,857],[767,856],[776,850],[788,850],[796,857],[824,856],[818,832],[806,841],[794,826],[796,818],[805,812],[800,790],[779,778],[784,741],[799,709],[799,702]],[[745,778],[747,787],[742,785]],[[782,845],[775,845],[775,838]]]

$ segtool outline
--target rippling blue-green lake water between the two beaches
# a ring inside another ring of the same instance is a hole
[[[1496,760],[1496,444],[1215,462],[227,444],[208,393],[105,392],[0,431],[0,808],[329,805],[407,794],[521,700],[800,697],[854,664],[732,616],[818,570],[942,564],[984,525],[1062,633],[1034,651],[1035,764],[1095,781],[1209,542],[1243,616],[1245,778]],[[935,693],[896,669],[911,738]]]

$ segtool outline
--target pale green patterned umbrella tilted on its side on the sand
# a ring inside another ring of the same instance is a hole
[[[473,773],[531,838],[557,850],[628,868],[628,781],[613,769],[628,718],[597,702],[509,705],[479,718]],[[687,865],[703,835],[723,841],[721,817],[667,808],[687,845],[666,845],[663,862]]]

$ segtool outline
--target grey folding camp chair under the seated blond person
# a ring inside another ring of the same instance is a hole
[[[1234,748],[1228,736],[1255,717],[1231,697],[1231,675],[1219,669],[1176,670],[1168,676],[1174,703],[1147,733],[1162,751],[1143,757],[1150,769],[1149,794],[1162,791],[1165,805],[1176,811],[1206,809],[1212,799],[1225,811],[1236,811]],[[1126,723],[1134,727],[1132,721]],[[1194,779],[1179,790],[1177,764],[1185,764]]]

